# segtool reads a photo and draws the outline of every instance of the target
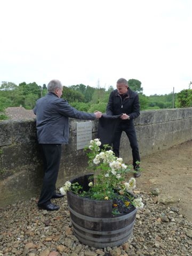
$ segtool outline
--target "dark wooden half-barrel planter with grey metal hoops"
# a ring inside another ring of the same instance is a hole
[[[83,190],[89,189],[89,177],[83,175],[78,182]],[[114,247],[123,244],[133,233],[137,209],[128,214],[111,217],[113,201],[97,201],[67,192],[68,207],[73,231],[78,240],[96,248]]]

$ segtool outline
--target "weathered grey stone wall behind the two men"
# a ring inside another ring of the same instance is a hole
[[[70,119],[70,139],[62,146],[57,186],[86,173],[86,153],[76,150],[76,119]],[[82,121],[83,122],[83,121]],[[191,140],[192,108],[141,111],[135,119],[142,156]],[[98,121],[92,121],[92,138],[97,138]],[[122,135],[121,157],[131,163],[132,154],[126,134]],[[158,164],[158,163],[157,163]],[[36,138],[35,119],[0,122],[0,206],[38,196],[43,164]]]

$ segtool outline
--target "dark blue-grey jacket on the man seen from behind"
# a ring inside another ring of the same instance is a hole
[[[37,138],[40,144],[67,144],[69,140],[69,117],[94,120],[95,115],[78,111],[62,98],[49,92],[37,100],[34,108]]]

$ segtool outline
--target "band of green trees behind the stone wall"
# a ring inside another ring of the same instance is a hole
[[[138,92],[141,110],[162,109],[174,107],[192,107],[192,90],[182,90],[179,93],[165,95],[143,94],[141,82],[137,79],[129,79],[129,87],[131,90]],[[91,87],[89,85],[77,84],[63,86],[63,95],[71,106],[81,111],[93,112],[99,110],[105,113],[109,94],[114,90],[110,86],[107,90],[100,87]],[[16,85],[12,82],[2,82],[0,86],[0,119],[6,119],[5,109],[7,107],[22,106],[25,109],[33,109],[37,99],[43,97],[47,93],[46,84],[37,85],[35,82],[27,84],[22,82]],[[173,106],[174,105],[174,106]]]

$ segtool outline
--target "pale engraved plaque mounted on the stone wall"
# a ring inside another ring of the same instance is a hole
[[[90,145],[92,140],[92,122],[77,123],[77,150]]]

